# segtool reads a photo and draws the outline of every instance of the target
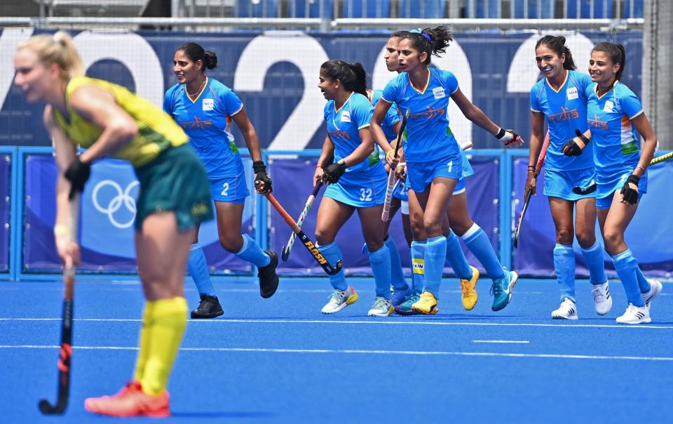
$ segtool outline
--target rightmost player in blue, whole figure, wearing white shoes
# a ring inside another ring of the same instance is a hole
[[[587,122],[594,144],[599,224],[629,303],[617,322],[641,324],[651,322],[650,304],[662,285],[644,277],[624,232],[647,190],[647,166],[657,137],[637,95],[619,81],[625,59],[621,44],[594,46],[589,74],[595,84],[587,87]],[[642,152],[637,134],[644,138]]]

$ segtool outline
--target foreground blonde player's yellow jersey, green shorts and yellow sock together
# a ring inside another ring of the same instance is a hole
[[[152,213],[175,213],[179,230],[188,230],[212,219],[210,185],[205,169],[187,145],[187,135],[175,121],[147,100],[126,88],[100,79],[76,77],[65,90],[67,117],[54,110],[57,126],[72,143],[90,147],[103,128],[73,109],[72,93],[81,86],[97,86],[111,93],[114,100],[136,122],[138,134],[110,156],[130,161],[140,181],[136,230]],[[182,296],[148,301],[143,315],[135,379],[149,395],[160,395],[166,388],[186,325],[186,301]]]

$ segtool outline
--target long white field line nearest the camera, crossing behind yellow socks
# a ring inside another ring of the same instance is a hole
[[[138,350],[126,346],[73,346],[74,350]],[[57,345],[0,345],[0,349],[60,349]],[[415,356],[457,356],[457,357],[509,357],[509,358],[551,358],[551,359],[613,359],[622,361],[673,362],[673,357],[630,357],[609,355],[559,355],[534,353],[497,352],[442,352],[426,350],[332,350],[332,349],[265,349],[252,347],[182,347],[182,352],[254,352],[254,353],[325,353],[345,355],[415,355]]]

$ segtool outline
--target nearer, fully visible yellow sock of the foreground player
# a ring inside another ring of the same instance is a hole
[[[187,325],[187,302],[184,298],[160,299],[153,302],[150,343],[140,382],[142,391],[158,395],[166,389],[177,350]],[[142,349],[141,344],[141,349]]]

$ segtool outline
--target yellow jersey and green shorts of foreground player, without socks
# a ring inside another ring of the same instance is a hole
[[[70,97],[81,86],[97,86],[111,93],[119,107],[138,126],[138,134],[110,156],[129,161],[140,181],[136,230],[151,213],[172,211],[179,230],[188,230],[213,218],[210,185],[198,157],[187,146],[187,135],[175,121],[148,100],[126,88],[100,79],[75,77],[65,89],[68,116],[53,110],[57,126],[81,147],[90,147],[103,128],[73,109]]]

